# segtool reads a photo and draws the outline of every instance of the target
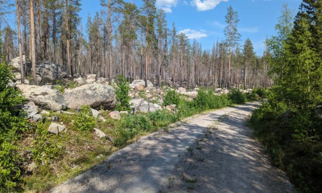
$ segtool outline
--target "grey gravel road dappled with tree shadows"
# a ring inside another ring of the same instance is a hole
[[[256,105],[223,108],[153,133],[50,192],[293,192],[244,127]],[[210,129],[214,123],[217,129]]]

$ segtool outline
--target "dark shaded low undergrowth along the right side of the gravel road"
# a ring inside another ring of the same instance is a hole
[[[256,109],[250,119],[274,166],[285,170],[299,192],[322,188],[322,123],[313,111],[287,111],[272,100]]]

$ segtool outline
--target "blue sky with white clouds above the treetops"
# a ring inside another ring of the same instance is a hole
[[[141,0],[130,1],[141,5]],[[175,22],[179,32],[184,32],[191,40],[196,38],[204,49],[211,49],[217,39],[224,40],[224,16],[226,9],[233,6],[240,20],[240,44],[249,37],[256,54],[262,55],[263,41],[275,34],[274,26],[283,3],[288,3],[296,14],[301,0],[157,0],[156,5],[167,12],[168,28],[171,29]],[[81,4],[80,15],[85,26],[88,13],[94,16],[96,11],[101,10],[100,0],[83,0]]]

